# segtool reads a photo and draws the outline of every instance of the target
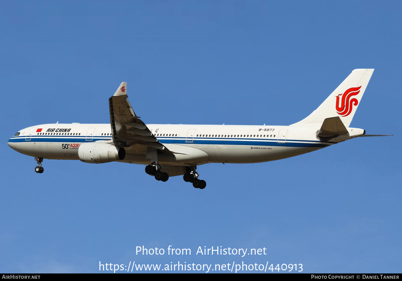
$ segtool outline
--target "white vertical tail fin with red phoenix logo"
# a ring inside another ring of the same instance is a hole
[[[353,70],[312,114],[291,126],[321,126],[326,118],[339,116],[342,123],[349,127],[373,71]]]

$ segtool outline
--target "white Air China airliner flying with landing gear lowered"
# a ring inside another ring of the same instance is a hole
[[[18,131],[8,145],[43,159],[86,163],[145,164],[147,174],[166,182],[183,175],[203,189],[196,169],[206,163],[259,163],[316,151],[367,135],[349,125],[374,69],[355,69],[303,120],[289,126],[148,124],[137,116],[123,82],[109,98],[110,124],[42,124]]]

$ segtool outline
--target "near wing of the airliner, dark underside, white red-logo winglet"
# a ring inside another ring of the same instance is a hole
[[[109,99],[113,143],[124,147],[126,153],[133,155],[146,155],[150,148],[171,154],[139,116],[135,115],[127,99],[126,85],[126,82],[121,83],[119,89]]]

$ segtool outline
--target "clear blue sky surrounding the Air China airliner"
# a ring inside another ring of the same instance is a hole
[[[96,273],[103,264],[303,264],[400,273],[400,1],[8,1],[0,10],[0,272]],[[375,68],[351,123],[367,134],[256,164],[157,182],[144,165],[44,160],[18,130],[109,123],[127,81],[148,124],[289,125],[355,68]],[[136,255],[136,246],[191,256]],[[200,256],[201,246],[267,248]]]

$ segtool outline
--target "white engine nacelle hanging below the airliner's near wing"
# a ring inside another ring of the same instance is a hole
[[[125,149],[109,143],[83,143],[78,148],[78,157],[86,163],[107,163],[123,160]]]

